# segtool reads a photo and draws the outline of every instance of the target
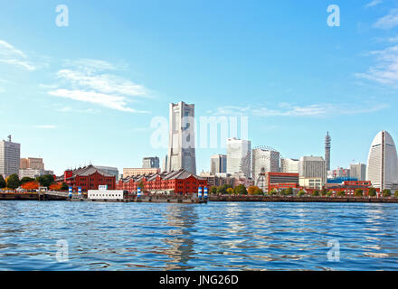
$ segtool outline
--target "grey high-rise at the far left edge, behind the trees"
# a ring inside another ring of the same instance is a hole
[[[21,158],[21,144],[11,141],[11,135],[8,135],[8,141],[0,142],[0,174],[7,177],[13,173],[19,173]]]

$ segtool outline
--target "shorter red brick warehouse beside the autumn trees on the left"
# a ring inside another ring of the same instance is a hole
[[[85,166],[76,170],[67,170],[56,182],[65,182],[73,188],[73,191],[98,190],[100,185],[107,185],[109,190],[116,188],[116,176],[103,172],[93,165]]]

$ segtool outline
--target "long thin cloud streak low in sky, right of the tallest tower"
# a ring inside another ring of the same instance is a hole
[[[309,106],[297,106],[288,103],[280,103],[278,107],[264,106],[227,106],[218,107],[210,111],[214,116],[254,116],[254,117],[328,117],[337,115],[355,115],[378,111],[388,107],[386,104],[365,104],[363,106],[353,104],[314,104]]]

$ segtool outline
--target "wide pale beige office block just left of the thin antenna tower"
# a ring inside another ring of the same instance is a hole
[[[322,156],[302,156],[299,160],[301,178],[321,178],[327,182],[327,164]]]

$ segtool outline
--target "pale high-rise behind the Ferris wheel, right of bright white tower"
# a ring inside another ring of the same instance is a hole
[[[268,148],[255,148],[252,155],[252,178],[256,180],[261,173],[280,172],[280,153]]]

